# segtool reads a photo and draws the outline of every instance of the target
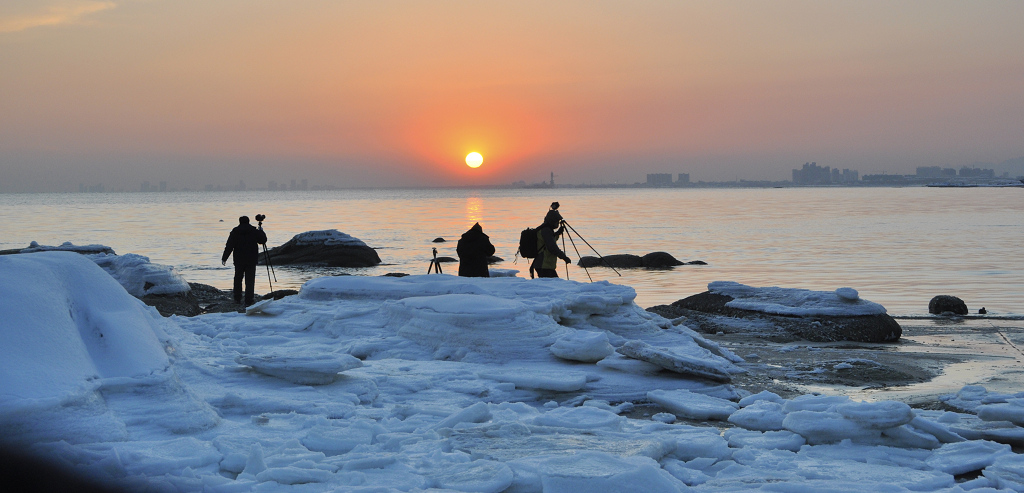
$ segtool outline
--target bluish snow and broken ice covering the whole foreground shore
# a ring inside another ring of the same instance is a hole
[[[1024,435],[1024,394],[749,395],[667,370],[742,371],[635,295],[352,276],[164,319],[81,255],[3,256],[0,433],[132,491],[1024,491],[985,440]]]

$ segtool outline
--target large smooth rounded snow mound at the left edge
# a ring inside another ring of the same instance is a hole
[[[0,412],[53,406],[170,364],[160,316],[88,258],[0,257]]]

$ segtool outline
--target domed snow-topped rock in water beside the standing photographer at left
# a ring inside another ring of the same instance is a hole
[[[267,250],[270,263],[307,264],[329,268],[369,268],[381,262],[377,251],[358,238],[338,230],[309,231],[295,235],[288,243]],[[260,255],[260,263],[266,256]]]

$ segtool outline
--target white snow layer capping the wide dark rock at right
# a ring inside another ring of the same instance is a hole
[[[708,290],[731,296],[726,306],[790,317],[862,317],[882,315],[885,306],[861,299],[852,288],[811,291],[794,288],[756,288],[732,281],[715,281]]]

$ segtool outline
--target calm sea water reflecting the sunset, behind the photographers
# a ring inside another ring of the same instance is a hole
[[[596,280],[633,286],[641,306],[669,303],[712,281],[814,290],[852,287],[892,315],[927,314],[937,294],[972,312],[1024,314],[1022,189],[587,189],[0,195],[0,249],[32,241],[103,244],[174,265],[188,281],[230,285],[220,265],[238,216],[266,214],[269,245],[337,229],[378,249],[370,269],[276,266],[274,289],[345,272],[425,274],[431,248],[457,256],[456,241],[479,221],[513,263],[519,231],[548,204],[602,255],[667,251],[683,265],[664,271],[591,269]],[[442,237],[447,243],[431,240]],[[584,255],[590,247],[577,239]],[[569,256],[580,255],[566,244]],[[457,273],[445,264],[445,273]],[[260,268],[257,292],[266,292]],[[565,277],[564,269],[559,275]],[[569,279],[587,281],[578,266]]]

